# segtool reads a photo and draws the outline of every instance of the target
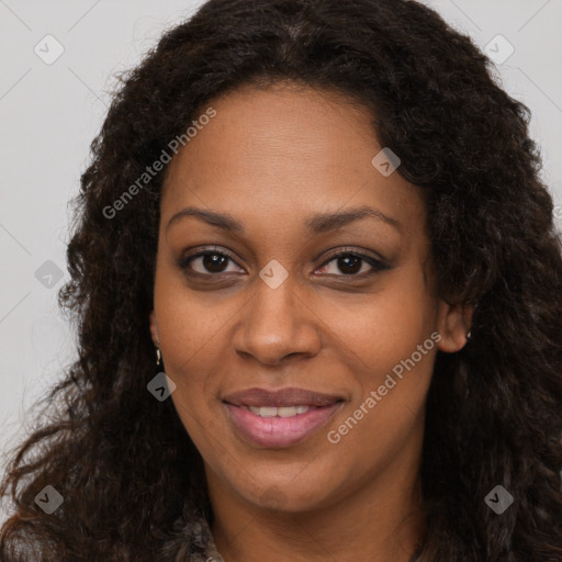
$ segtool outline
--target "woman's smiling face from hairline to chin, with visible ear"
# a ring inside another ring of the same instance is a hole
[[[292,512],[390,493],[418,470],[437,349],[465,342],[435,295],[420,192],[335,94],[210,105],[167,170],[150,316],[210,490]],[[288,387],[327,397],[244,392]]]

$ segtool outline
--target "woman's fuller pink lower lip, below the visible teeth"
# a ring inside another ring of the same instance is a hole
[[[247,440],[261,447],[290,447],[296,445],[325,426],[342,402],[310,409],[290,417],[261,417],[240,406],[225,403],[228,416]]]

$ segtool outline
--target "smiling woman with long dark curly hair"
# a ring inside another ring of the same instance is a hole
[[[81,178],[2,561],[562,561],[561,245],[487,65],[413,1],[165,34]]]

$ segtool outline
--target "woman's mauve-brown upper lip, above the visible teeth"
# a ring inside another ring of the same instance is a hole
[[[235,406],[327,406],[344,398],[305,389],[246,389],[224,396],[223,402]]]

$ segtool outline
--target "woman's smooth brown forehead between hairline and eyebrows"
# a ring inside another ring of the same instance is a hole
[[[273,218],[370,205],[397,221],[424,222],[418,189],[373,166],[383,147],[367,108],[291,86],[245,87],[209,105],[216,116],[168,167],[162,218],[196,205],[247,221],[258,212],[273,226]]]

